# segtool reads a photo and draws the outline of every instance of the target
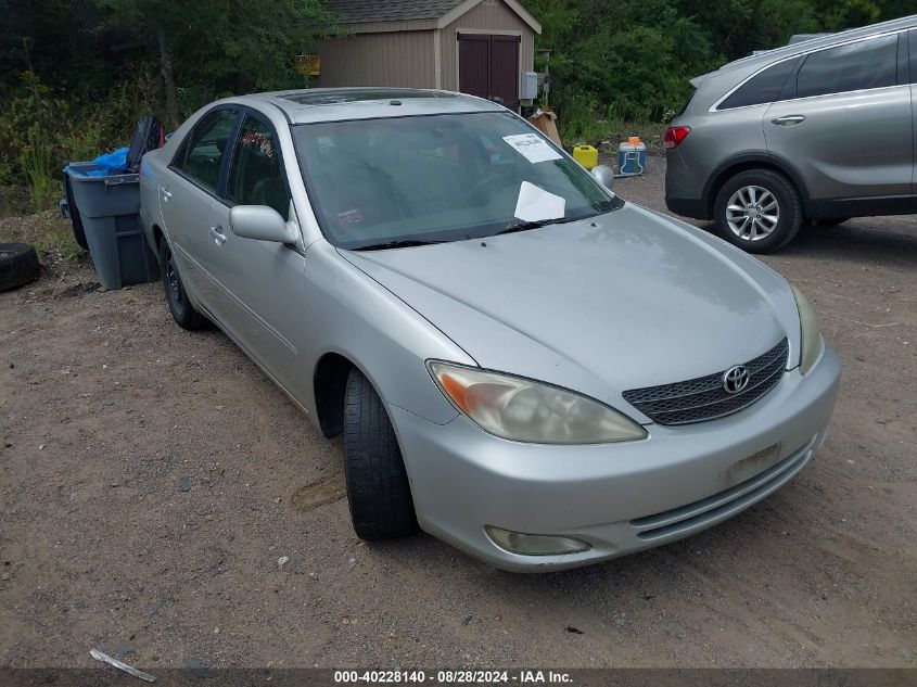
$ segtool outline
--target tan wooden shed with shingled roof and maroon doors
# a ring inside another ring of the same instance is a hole
[[[349,36],[320,48],[318,85],[442,88],[518,110],[542,25],[517,0],[329,0]]]

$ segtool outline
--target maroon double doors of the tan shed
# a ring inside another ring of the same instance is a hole
[[[519,36],[459,34],[459,90],[519,110]]]

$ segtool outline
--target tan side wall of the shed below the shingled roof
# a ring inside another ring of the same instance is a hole
[[[324,41],[319,50],[319,85],[433,88],[434,42],[432,30],[357,34]]]

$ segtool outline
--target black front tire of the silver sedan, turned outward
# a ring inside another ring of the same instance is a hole
[[[410,483],[385,405],[358,369],[344,395],[344,474],[351,521],[361,539],[417,532]]]

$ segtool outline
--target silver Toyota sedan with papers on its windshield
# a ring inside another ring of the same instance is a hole
[[[343,432],[365,539],[583,565],[734,516],[825,441],[840,365],[805,297],[494,103],[218,101],[141,194],[175,320]]]

